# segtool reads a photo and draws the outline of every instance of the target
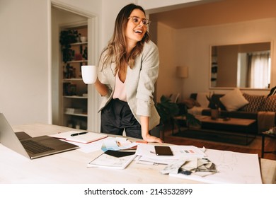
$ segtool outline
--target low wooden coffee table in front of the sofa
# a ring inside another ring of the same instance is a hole
[[[250,135],[249,130],[251,124],[255,123],[256,120],[251,119],[242,119],[242,118],[229,118],[222,119],[219,118],[217,120],[212,120],[210,116],[195,116],[202,123],[201,127],[187,127],[186,130],[192,129],[195,132],[206,132],[206,133],[215,133],[219,136],[219,134],[229,134],[229,136],[238,136],[239,138],[244,139],[241,143],[243,145],[251,144],[253,139],[255,139],[255,135]],[[185,120],[185,117],[175,117],[175,120]],[[239,129],[239,132],[234,132],[231,128]],[[174,126],[173,126],[174,128]],[[178,127],[178,132],[180,132],[180,127]],[[185,133],[185,131],[184,131]],[[172,130],[172,134],[173,130]]]

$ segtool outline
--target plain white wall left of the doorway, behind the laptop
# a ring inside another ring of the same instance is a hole
[[[0,111],[11,124],[51,120],[49,2],[0,1]]]

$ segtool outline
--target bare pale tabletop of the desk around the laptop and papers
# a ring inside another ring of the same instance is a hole
[[[50,124],[26,124],[13,127],[31,136],[55,134],[71,130]],[[78,150],[30,160],[0,144],[0,183],[197,183],[159,173],[165,165],[131,163],[125,170],[86,168],[98,155]],[[275,182],[276,161],[261,159],[263,183]],[[108,175],[108,176],[107,176]]]

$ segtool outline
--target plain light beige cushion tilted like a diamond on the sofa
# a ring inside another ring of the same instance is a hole
[[[222,96],[222,98],[219,98],[219,100],[228,111],[236,111],[244,105],[248,104],[248,100],[243,97],[243,94],[239,88],[234,88],[234,90],[229,91],[224,96]]]

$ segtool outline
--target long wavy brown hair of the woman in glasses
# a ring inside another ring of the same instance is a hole
[[[134,9],[141,10],[145,15],[145,11],[141,6],[135,4],[128,4],[123,7],[117,15],[115,20],[115,28],[113,37],[108,42],[100,57],[103,56],[103,67],[115,62],[115,74],[120,69],[125,69],[125,64],[129,64],[132,69],[135,63],[135,58],[141,54],[144,42],[149,42],[149,32],[146,31],[141,41],[132,49],[130,54],[127,54],[127,42],[125,39],[125,28],[127,28],[127,21]],[[102,68],[103,69],[103,68]],[[114,74],[114,75],[115,75]]]

